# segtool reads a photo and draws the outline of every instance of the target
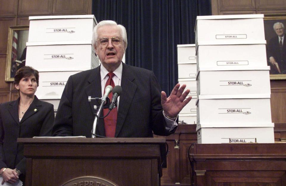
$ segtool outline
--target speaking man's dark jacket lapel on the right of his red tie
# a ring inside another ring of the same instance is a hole
[[[125,64],[122,65],[123,65],[122,80],[121,80],[122,92],[120,95],[119,109],[117,113],[115,137],[118,136],[123,126],[131,101],[137,89],[137,85],[133,83],[133,80],[135,79],[133,72],[130,70],[129,66]]]

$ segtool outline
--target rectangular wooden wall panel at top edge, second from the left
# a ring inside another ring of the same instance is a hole
[[[52,14],[53,0],[19,0],[18,15]]]

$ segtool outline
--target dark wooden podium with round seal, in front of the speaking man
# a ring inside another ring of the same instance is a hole
[[[165,138],[18,138],[26,186],[155,186]]]

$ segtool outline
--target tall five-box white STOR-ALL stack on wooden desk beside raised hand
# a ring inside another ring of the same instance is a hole
[[[198,143],[273,143],[263,15],[198,16]]]

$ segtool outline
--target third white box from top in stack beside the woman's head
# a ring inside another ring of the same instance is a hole
[[[69,76],[72,72],[39,72],[39,86],[35,93],[40,100],[60,99]]]

